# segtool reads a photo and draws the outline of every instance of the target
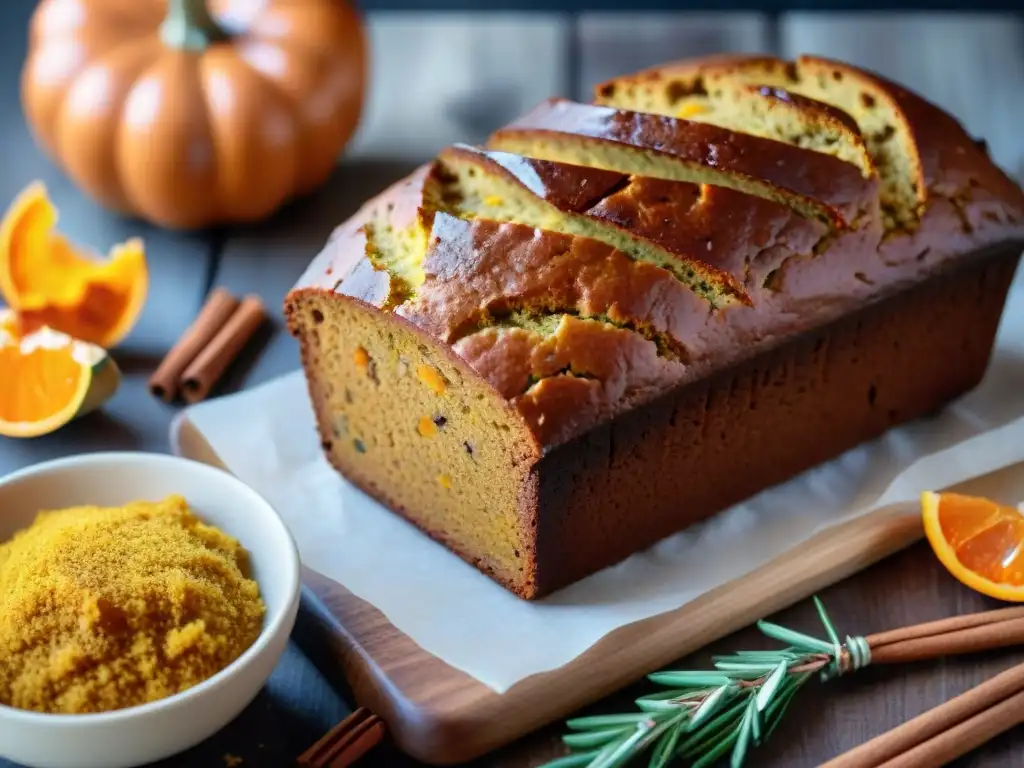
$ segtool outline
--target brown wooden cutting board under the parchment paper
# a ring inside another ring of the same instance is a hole
[[[186,457],[224,466],[187,420],[181,424],[179,446]],[[1021,466],[956,489],[972,493],[971,486],[1011,471],[1020,472]],[[800,545],[799,557],[778,558],[678,610],[624,627],[564,667],[527,678],[501,694],[423,650],[337,583],[306,569],[304,584],[308,606],[328,632],[357,703],[385,720],[402,751],[425,763],[447,765],[479,757],[565,717],[922,536],[916,504],[879,509]]]

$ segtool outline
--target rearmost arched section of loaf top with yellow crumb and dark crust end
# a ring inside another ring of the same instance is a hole
[[[1020,189],[954,118],[900,85],[841,61],[819,56],[783,61],[761,55],[676,61],[601,83],[595,88],[595,102],[735,128],[749,112],[728,106],[737,85],[777,88],[849,116],[878,170],[889,229],[915,228],[934,198],[957,204],[970,200],[977,215],[999,216],[1006,203],[1019,210]],[[748,121],[743,130],[770,135],[774,128]],[[835,148],[838,144],[831,146],[811,148],[842,156]]]

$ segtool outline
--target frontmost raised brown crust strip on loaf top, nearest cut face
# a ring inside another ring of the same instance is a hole
[[[571,315],[629,329],[659,355],[689,362],[696,350],[683,340],[709,313],[707,301],[650,262],[513,222],[435,214],[423,269],[424,285],[397,312],[449,344],[490,328],[544,335]],[[510,397],[525,390],[495,383]]]

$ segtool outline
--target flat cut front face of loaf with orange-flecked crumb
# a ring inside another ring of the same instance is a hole
[[[330,415],[318,420],[328,458],[482,570],[528,593],[524,553],[534,531],[522,494],[531,461],[517,439],[521,421],[484,381],[380,317],[325,294],[294,307],[293,327],[305,329],[303,356],[322,372],[311,393],[317,413]]]

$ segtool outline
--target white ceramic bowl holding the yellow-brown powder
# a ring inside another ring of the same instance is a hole
[[[0,756],[32,768],[129,768],[169,757],[227,725],[270,676],[295,624],[299,555],[288,528],[256,492],[219,469],[160,454],[90,454],[0,479],[0,541],[40,509],[185,498],[204,521],[250,554],[266,604],[263,632],[219,674],[160,701],[96,715],[44,715],[0,707]]]

